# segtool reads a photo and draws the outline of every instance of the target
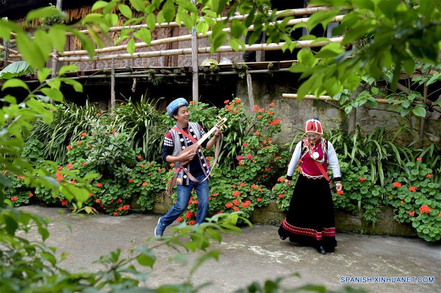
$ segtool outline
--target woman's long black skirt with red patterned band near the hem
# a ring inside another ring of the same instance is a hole
[[[328,251],[337,246],[334,204],[329,182],[300,174],[286,218],[279,228],[282,238]]]

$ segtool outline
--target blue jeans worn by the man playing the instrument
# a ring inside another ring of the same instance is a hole
[[[205,175],[201,174],[195,178],[201,181],[205,178]],[[183,211],[185,211],[193,188],[198,196],[198,215],[196,217],[196,224],[201,224],[205,221],[208,213],[208,180],[199,183],[189,180],[188,185],[177,186],[178,199],[176,204],[161,217],[161,224],[165,226],[170,225],[182,214]]]

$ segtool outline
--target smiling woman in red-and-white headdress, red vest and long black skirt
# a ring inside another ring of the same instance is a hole
[[[337,191],[342,189],[340,166],[332,143],[321,137],[320,121],[308,120],[304,130],[306,138],[297,143],[286,174],[285,183],[290,186],[294,168],[300,162],[300,175],[279,236],[282,240],[289,238],[292,242],[311,245],[326,254],[337,246],[328,166]]]

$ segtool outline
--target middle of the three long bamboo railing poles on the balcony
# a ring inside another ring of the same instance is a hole
[[[337,15],[335,18],[333,18],[333,22],[340,22],[343,19],[344,15]],[[287,27],[294,26],[299,23],[305,23],[308,22],[309,18],[298,18],[298,19],[292,19],[288,21],[285,25]],[[275,24],[280,24],[282,21],[272,22],[269,25],[274,26]],[[254,25],[248,27],[249,31],[254,30]],[[226,27],[223,29],[223,31],[231,32],[230,27]],[[197,36],[198,38],[206,38],[210,36],[212,31],[207,31],[205,34],[199,33]],[[176,37],[168,37],[168,38],[162,38],[153,40],[150,42],[150,45],[148,45],[145,42],[139,42],[135,43],[135,48],[145,48],[145,47],[151,47],[151,46],[157,46],[157,45],[163,45],[163,44],[169,44],[174,42],[182,42],[182,41],[190,41],[192,39],[191,34],[182,35],[182,36],[176,36]],[[119,46],[113,46],[113,47],[106,47],[101,49],[95,49],[95,53],[108,53],[108,52],[115,52],[115,51],[121,51],[121,50],[127,50],[127,45],[119,45]],[[87,50],[75,50],[75,51],[65,51],[60,52],[60,56],[70,56],[70,55],[87,55]]]

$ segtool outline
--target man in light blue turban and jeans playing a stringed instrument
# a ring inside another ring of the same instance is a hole
[[[190,113],[187,107],[188,102],[184,98],[174,100],[167,107],[167,113],[176,120],[176,125],[165,135],[162,160],[175,163],[175,177],[169,190],[171,191],[174,184],[177,185],[177,201],[165,215],[158,219],[155,236],[162,236],[165,228],[185,211],[193,188],[198,196],[196,224],[203,223],[208,213],[209,163],[201,147],[190,147],[199,143],[206,133],[198,123],[188,121]],[[207,138],[199,143],[206,150],[210,150],[221,135],[218,127],[212,131],[214,135],[210,140]],[[184,151],[186,148],[190,151]]]

